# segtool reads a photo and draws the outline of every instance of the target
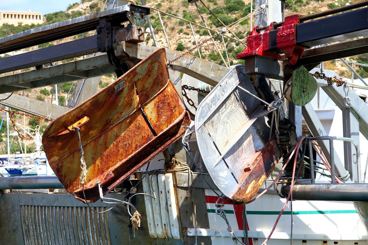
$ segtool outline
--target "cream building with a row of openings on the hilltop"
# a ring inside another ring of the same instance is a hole
[[[31,10],[28,12],[0,10],[0,26],[5,23],[17,26],[20,22],[22,25],[37,25],[42,24],[43,19],[40,12],[31,12]]]

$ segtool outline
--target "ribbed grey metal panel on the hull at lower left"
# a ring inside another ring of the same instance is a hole
[[[20,210],[26,245],[111,244],[107,213],[95,213],[88,207],[64,206],[21,205]]]

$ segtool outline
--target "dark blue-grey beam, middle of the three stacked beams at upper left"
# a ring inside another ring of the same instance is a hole
[[[66,60],[97,52],[97,36],[18,54],[0,60],[0,73]]]

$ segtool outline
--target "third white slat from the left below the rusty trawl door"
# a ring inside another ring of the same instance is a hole
[[[167,207],[165,175],[164,174],[159,174],[157,179],[158,179],[158,184],[159,184],[159,197],[160,197],[160,208],[161,208],[163,233],[165,234],[165,236],[167,238],[172,238],[171,237],[169,209]]]

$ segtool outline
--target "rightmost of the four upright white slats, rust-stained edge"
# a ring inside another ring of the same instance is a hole
[[[171,173],[165,174],[165,185],[167,194],[167,206],[169,209],[169,217],[171,225],[171,234],[173,235],[174,239],[180,239],[179,220],[174,191],[174,181],[173,175]]]

